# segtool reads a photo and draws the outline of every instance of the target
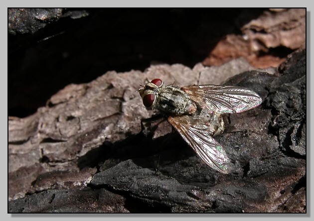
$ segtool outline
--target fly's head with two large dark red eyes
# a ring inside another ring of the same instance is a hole
[[[154,109],[159,94],[159,90],[162,87],[163,83],[160,79],[154,79],[148,84],[140,85],[138,92],[141,95],[143,104],[146,108]]]

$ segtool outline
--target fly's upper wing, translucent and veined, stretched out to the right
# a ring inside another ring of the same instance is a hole
[[[217,113],[239,113],[262,103],[254,91],[235,86],[193,85],[181,90],[189,94],[191,100]]]

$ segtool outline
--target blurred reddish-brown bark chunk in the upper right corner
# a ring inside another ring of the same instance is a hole
[[[245,17],[252,13],[255,12],[248,8],[236,19],[241,34],[227,34],[203,61],[204,65],[243,56],[255,67],[278,67],[286,59],[285,52],[305,46],[305,8],[269,9],[245,23]]]

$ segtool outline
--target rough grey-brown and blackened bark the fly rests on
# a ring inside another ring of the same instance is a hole
[[[305,61],[302,50],[275,75],[248,71],[225,82],[263,98],[225,116],[216,139],[235,163],[228,175],[164,132],[166,122],[141,133],[153,112],[138,83],[206,84],[211,68],[157,65],[67,86],[35,114],[9,119],[9,212],[305,212]]]

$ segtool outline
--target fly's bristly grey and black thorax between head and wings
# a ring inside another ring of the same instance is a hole
[[[174,87],[160,88],[156,97],[155,108],[168,115],[192,114],[196,104],[189,95]]]

